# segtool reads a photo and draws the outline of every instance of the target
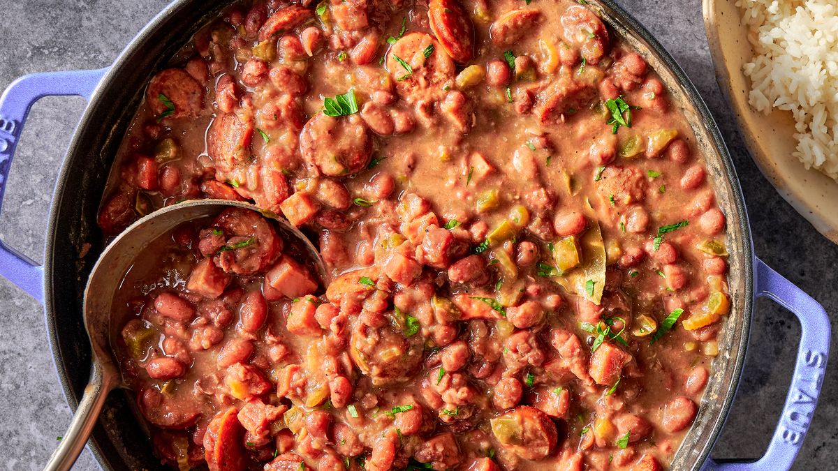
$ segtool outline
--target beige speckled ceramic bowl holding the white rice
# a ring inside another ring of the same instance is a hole
[[[733,0],[704,0],[704,25],[716,81],[727,96],[753,161],[779,194],[821,234],[838,243],[838,182],[804,168],[792,153],[794,119],[789,111],[764,114],[748,105],[751,81],[742,66],[753,57],[747,26]]]

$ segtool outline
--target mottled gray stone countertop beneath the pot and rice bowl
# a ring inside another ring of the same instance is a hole
[[[536,0],[537,1],[537,0]],[[838,324],[838,246],[818,234],[754,166],[713,74],[699,0],[618,0],[660,40],[707,101],[736,162],[758,256],[820,301]],[[0,0],[0,89],[47,70],[96,69],[116,55],[163,0]],[[49,201],[84,101],[50,97],[34,106],[13,163],[0,237],[43,260]],[[836,202],[838,204],[838,202]],[[40,469],[70,422],[54,370],[43,309],[0,280],[0,467]],[[756,303],[737,400],[713,456],[757,458],[779,418],[791,378],[799,324],[778,305]],[[833,335],[833,339],[838,336]],[[835,352],[835,342],[832,351]],[[795,468],[834,468],[838,446],[835,354],[822,400]],[[76,469],[98,469],[85,450]]]

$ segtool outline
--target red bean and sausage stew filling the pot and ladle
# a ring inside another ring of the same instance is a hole
[[[725,215],[585,2],[230,8],[147,86],[99,225],[200,198],[263,211],[179,226],[118,294],[172,468],[654,470],[696,417]]]

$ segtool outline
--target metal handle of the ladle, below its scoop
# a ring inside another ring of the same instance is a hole
[[[102,406],[105,405],[108,393],[115,386],[115,375],[108,372],[99,362],[94,362],[91,368],[91,380],[85,387],[85,394],[75,410],[70,427],[61,438],[58,448],[49,457],[44,471],[69,471],[73,467],[81,450],[85,448],[93,427],[96,427],[96,421]]]

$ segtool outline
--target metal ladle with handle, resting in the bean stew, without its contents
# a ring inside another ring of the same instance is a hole
[[[70,427],[49,458],[45,470],[67,471],[73,466],[96,426],[108,393],[118,387],[126,387],[122,383],[116,357],[111,349],[111,314],[118,312],[111,304],[122,278],[137,256],[150,242],[176,226],[190,220],[214,217],[231,207],[261,212],[253,204],[225,199],[198,199],[174,204],[137,220],[102,252],[88,278],[84,298],[85,330],[93,349],[91,379],[85,386],[84,396],[81,397]],[[287,220],[273,215],[269,217],[279,225],[279,235],[283,239],[296,239],[300,242],[317,268],[322,286],[326,286],[328,274],[311,241]]]

